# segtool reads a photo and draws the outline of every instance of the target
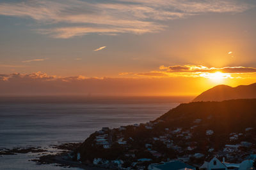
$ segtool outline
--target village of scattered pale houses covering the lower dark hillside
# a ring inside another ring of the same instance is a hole
[[[127,170],[255,169],[256,139],[252,138],[255,136],[253,127],[228,134],[228,139],[223,139],[226,143],[218,146],[211,142],[216,132],[214,129],[203,130],[202,119],[196,118],[189,127],[168,128],[164,123],[164,120],[158,119],[116,129],[102,127],[90,136],[90,147],[100,153],[99,157],[92,154],[92,164],[107,169]],[[198,132],[203,142],[198,140]],[[77,160],[80,159],[78,150]]]

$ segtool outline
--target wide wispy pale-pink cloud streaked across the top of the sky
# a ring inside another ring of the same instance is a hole
[[[36,31],[53,38],[72,38],[92,33],[158,32],[166,28],[163,21],[209,12],[238,13],[249,8],[252,4],[239,0],[27,0],[0,3],[0,15],[32,18],[41,26]]]

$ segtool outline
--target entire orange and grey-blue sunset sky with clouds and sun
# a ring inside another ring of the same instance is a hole
[[[196,96],[256,82],[254,0],[2,0],[1,95]]]

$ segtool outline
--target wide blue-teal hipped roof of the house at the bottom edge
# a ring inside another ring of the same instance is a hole
[[[163,164],[157,164],[150,166],[148,168],[150,170],[178,170],[178,169],[193,169],[195,170],[196,168],[193,166],[189,166],[188,164],[184,162],[180,162],[179,160],[173,160],[171,162],[164,162]]]

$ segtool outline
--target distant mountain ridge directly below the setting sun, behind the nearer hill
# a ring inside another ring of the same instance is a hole
[[[251,85],[239,85],[237,87],[217,85],[197,96],[193,102],[225,101],[230,99],[256,99],[256,83]]]

